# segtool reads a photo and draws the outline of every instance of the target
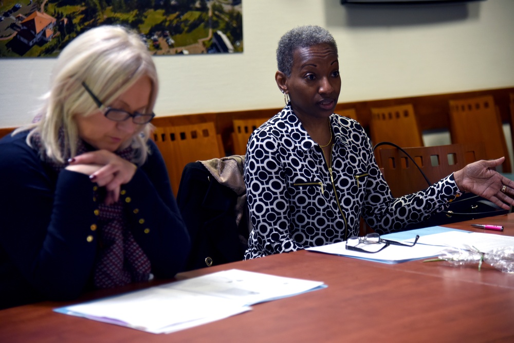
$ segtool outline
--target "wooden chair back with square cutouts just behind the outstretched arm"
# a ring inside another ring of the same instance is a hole
[[[469,145],[452,144],[435,147],[405,148],[427,176],[430,185],[467,164],[485,158],[483,142]],[[414,193],[429,186],[421,172],[400,150],[383,148],[379,151],[383,161],[382,173],[393,196]]]

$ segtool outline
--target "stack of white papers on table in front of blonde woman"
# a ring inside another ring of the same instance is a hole
[[[169,333],[249,311],[252,304],[323,287],[319,281],[231,269],[54,311]]]

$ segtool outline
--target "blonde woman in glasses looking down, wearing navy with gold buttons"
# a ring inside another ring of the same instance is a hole
[[[135,32],[61,52],[38,121],[0,141],[0,309],[173,277],[190,249],[149,140],[158,80]]]

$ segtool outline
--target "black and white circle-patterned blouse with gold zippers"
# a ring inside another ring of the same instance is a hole
[[[330,122],[333,182],[290,105],[251,135],[244,173],[253,231],[245,259],[344,241],[358,235],[361,216],[380,234],[401,230],[461,195],[452,174],[394,198],[360,124],[336,114]]]

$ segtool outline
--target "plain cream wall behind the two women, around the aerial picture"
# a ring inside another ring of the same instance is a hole
[[[280,107],[274,52],[297,25],[339,45],[339,102],[514,85],[514,1],[342,6],[339,0],[244,0],[244,53],[156,57],[157,115]],[[0,59],[0,127],[30,122],[53,59]]]

